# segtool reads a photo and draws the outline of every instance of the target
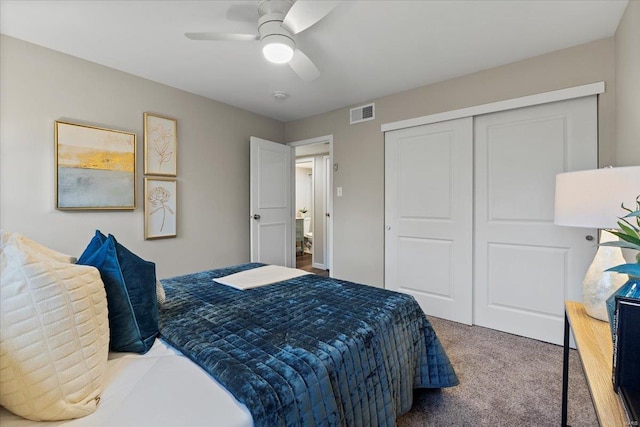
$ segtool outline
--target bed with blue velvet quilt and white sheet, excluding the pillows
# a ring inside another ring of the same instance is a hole
[[[95,412],[47,425],[393,426],[415,388],[458,383],[411,296],[310,274],[222,284],[268,267],[162,280],[151,349],[109,353]],[[3,427],[38,424],[0,408]]]

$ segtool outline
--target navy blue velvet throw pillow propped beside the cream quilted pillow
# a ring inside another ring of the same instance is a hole
[[[158,335],[155,264],[99,230],[77,263],[100,271],[109,308],[110,350],[141,354],[149,351]]]

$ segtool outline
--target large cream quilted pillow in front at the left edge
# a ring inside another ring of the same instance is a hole
[[[0,404],[37,421],[83,417],[107,367],[104,284],[30,242],[4,233],[0,243]]]

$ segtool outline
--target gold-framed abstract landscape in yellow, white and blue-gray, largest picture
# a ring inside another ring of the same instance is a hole
[[[56,120],[56,209],[136,208],[136,134]]]

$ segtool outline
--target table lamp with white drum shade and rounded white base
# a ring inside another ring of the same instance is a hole
[[[572,227],[599,228],[600,243],[618,240],[607,228],[619,228],[625,207],[635,209],[640,195],[640,166],[566,172],[556,175],[554,223]],[[626,263],[622,250],[599,246],[583,281],[582,298],[591,317],[608,321],[606,300],[627,280],[626,274],[605,272]]]

